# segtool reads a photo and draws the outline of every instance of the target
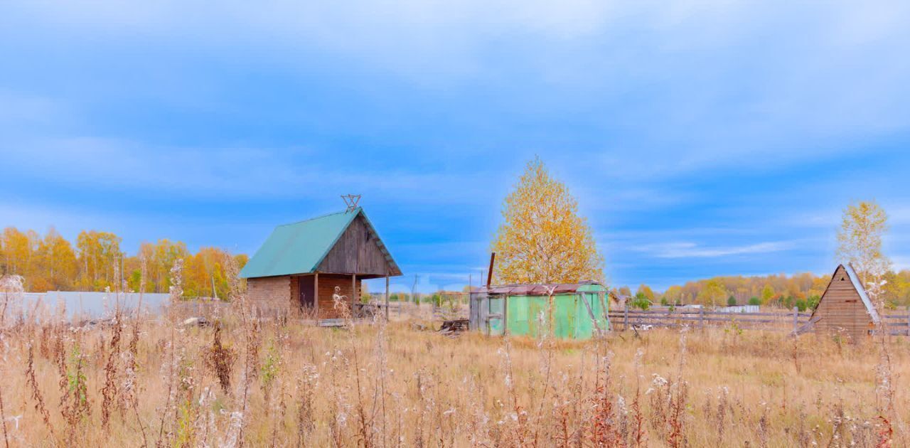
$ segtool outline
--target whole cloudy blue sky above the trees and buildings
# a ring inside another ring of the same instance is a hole
[[[906,2],[0,5],[0,225],[252,253],[360,193],[421,288],[479,277],[540,155],[612,284],[910,268]]]

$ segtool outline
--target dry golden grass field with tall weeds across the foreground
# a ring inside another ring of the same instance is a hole
[[[908,342],[3,323],[9,446],[906,446]],[[890,443],[890,444],[889,444]]]

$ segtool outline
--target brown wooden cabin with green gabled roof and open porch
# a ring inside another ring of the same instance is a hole
[[[319,319],[340,317],[332,298],[336,288],[352,306],[367,279],[386,279],[388,311],[389,277],[399,275],[360,208],[278,226],[240,271],[248,300],[260,310],[311,311]]]

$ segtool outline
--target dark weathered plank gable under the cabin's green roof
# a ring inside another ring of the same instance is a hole
[[[377,236],[369,231],[362,215],[354,219],[341,235],[326,258],[319,264],[319,272],[357,273],[359,275],[394,275],[385,254],[379,250]],[[321,279],[321,276],[319,278]],[[350,287],[349,287],[350,289]],[[322,297],[322,292],[319,292]]]

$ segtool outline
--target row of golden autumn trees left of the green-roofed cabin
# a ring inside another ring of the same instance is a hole
[[[144,242],[135,255],[127,255],[121,242],[112,232],[83,230],[74,245],[54,228],[41,235],[7,227],[0,234],[0,275],[22,276],[30,292],[116,290],[118,279],[126,283],[126,290],[167,292],[170,270],[182,259],[185,297],[224,299],[229,288],[227,263],[240,269],[248,260],[247,255],[213,247],[191,253],[184,242],[169,239]]]

